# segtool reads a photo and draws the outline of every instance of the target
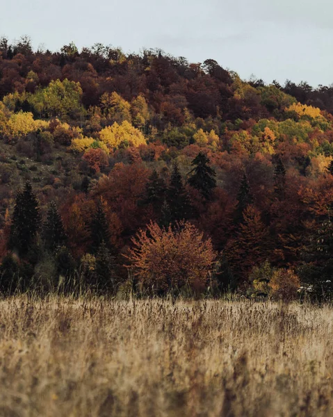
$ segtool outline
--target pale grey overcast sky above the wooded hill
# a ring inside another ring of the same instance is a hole
[[[0,35],[52,51],[74,41],[161,48],[270,83],[333,83],[332,0],[2,0]]]

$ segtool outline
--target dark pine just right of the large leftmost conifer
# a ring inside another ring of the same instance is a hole
[[[63,220],[55,202],[49,204],[47,220],[44,223],[42,235],[46,249],[51,252],[54,252],[58,246],[63,246],[67,240]]]

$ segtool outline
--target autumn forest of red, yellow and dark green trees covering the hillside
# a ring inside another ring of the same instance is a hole
[[[0,100],[1,293],[330,297],[333,85],[22,37]]]

